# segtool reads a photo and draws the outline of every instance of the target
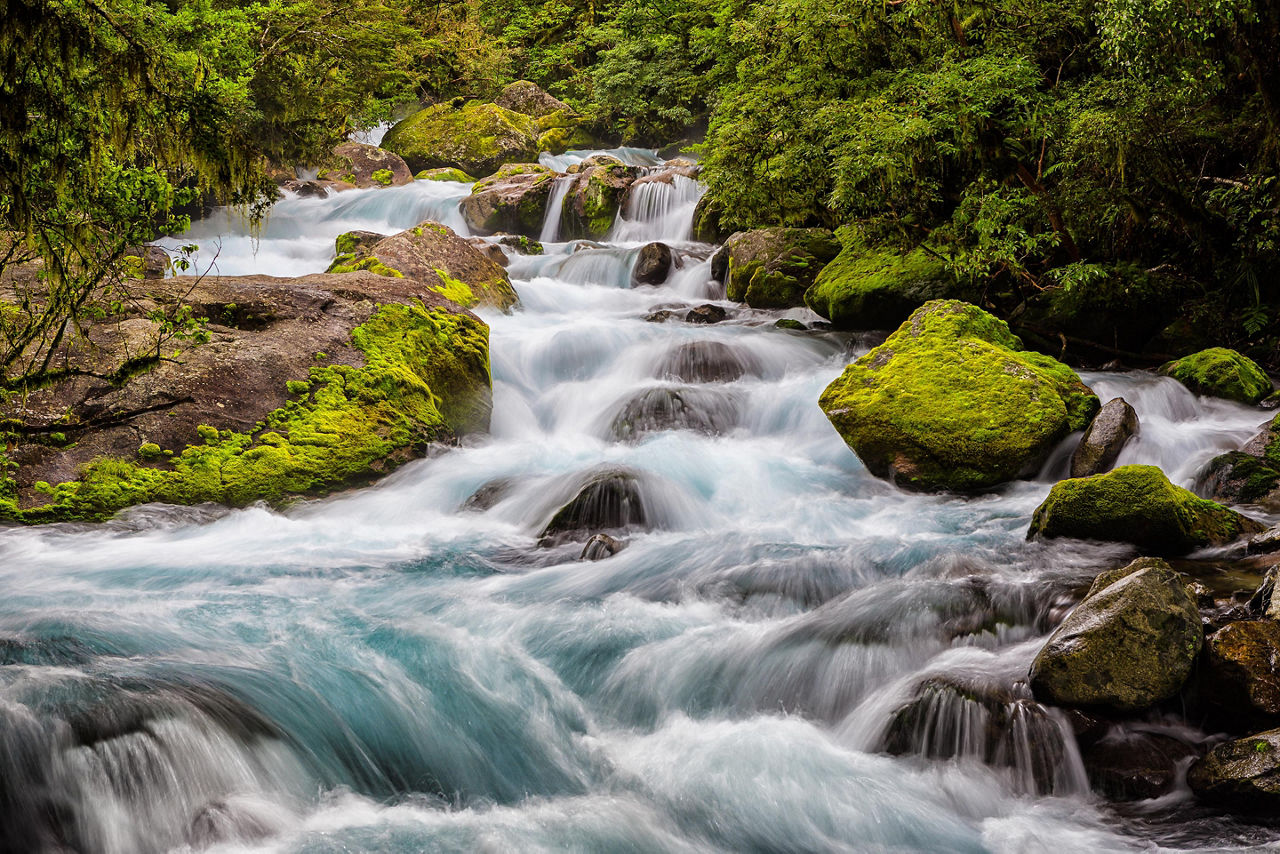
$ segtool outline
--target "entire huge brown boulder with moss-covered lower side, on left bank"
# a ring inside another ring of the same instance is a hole
[[[79,373],[28,394],[20,412],[6,407],[23,430],[0,515],[280,503],[367,483],[488,426],[488,328],[419,282],[170,278],[142,293],[65,344],[60,359]],[[179,300],[207,341],[157,321]],[[124,366],[129,382],[111,382]]]

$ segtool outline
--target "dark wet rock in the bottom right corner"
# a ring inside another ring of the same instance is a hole
[[[1235,812],[1280,808],[1280,730],[1220,744],[1187,772],[1201,799]]]

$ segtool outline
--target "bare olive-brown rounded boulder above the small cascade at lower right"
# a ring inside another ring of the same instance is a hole
[[[1036,698],[1116,712],[1170,699],[1203,641],[1181,577],[1161,560],[1139,558],[1098,581],[1032,662]]]

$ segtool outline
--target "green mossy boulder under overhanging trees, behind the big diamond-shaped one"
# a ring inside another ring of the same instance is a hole
[[[937,255],[876,250],[841,230],[842,248],[804,293],[804,302],[837,329],[895,329],[929,300],[969,300]]]

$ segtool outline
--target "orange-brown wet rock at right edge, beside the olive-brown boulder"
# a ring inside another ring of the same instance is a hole
[[[1210,635],[1201,697],[1215,726],[1233,732],[1280,725],[1280,622],[1233,622]]]

